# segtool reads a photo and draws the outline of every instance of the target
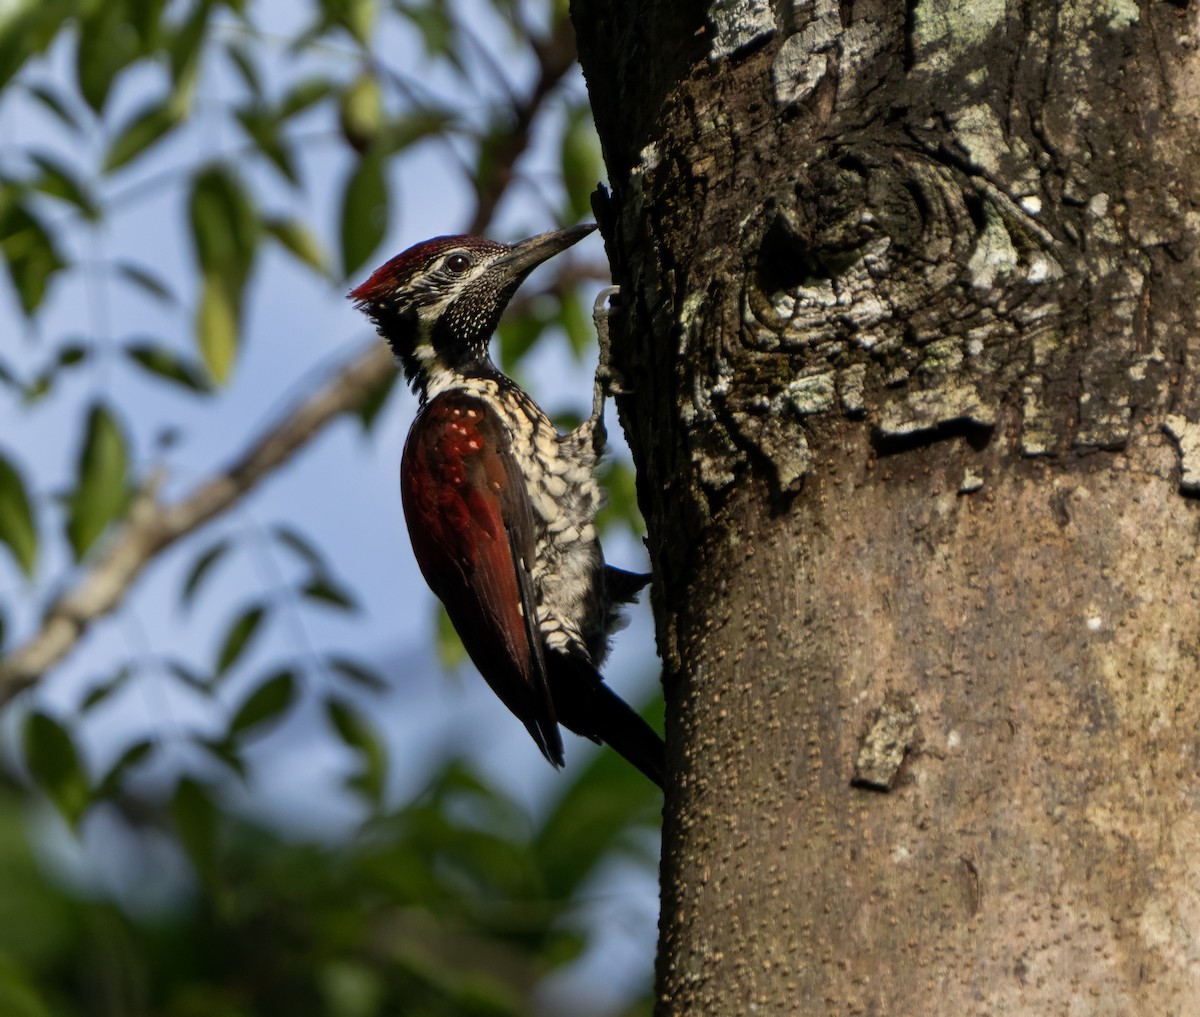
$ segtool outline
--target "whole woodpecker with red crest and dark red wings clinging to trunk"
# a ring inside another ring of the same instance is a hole
[[[512,245],[436,236],[349,296],[419,397],[400,470],[404,518],[470,660],[554,766],[563,724],[607,742],[661,787],[662,740],[599,670],[622,603],[647,578],[606,566],[596,540],[602,385],[592,416],[559,434],[488,355],[526,276],[593,229]]]

